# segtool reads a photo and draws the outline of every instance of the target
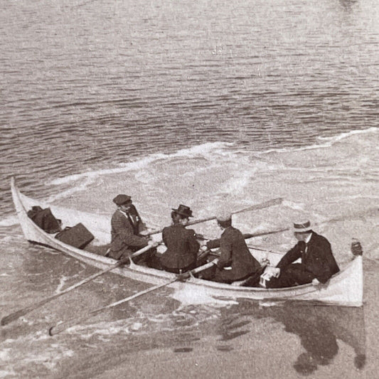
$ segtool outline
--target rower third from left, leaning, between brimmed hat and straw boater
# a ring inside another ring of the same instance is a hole
[[[240,230],[232,226],[231,213],[220,213],[216,219],[218,226],[223,230],[220,238],[220,257],[213,270],[213,277],[208,272],[203,275],[203,279],[230,284],[256,274],[258,282],[263,269],[260,262],[250,253]]]

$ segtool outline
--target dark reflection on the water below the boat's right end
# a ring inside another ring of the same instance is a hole
[[[284,331],[294,333],[300,338],[305,349],[300,353],[293,367],[301,375],[309,375],[319,365],[330,365],[338,354],[338,341],[351,346],[355,352],[354,365],[361,369],[365,365],[365,321],[364,310],[342,306],[314,306],[299,301],[288,301],[282,306],[259,306],[244,301],[237,306],[234,314],[224,319],[221,338],[225,341],[249,333],[247,324],[256,323],[258,319],[274,319],[284,325]],[[243,307],[243,309],[242,309]],[[226,314],[225,314],[226,316]],[[246,317],[253,320],[246,321]],[[242,321],[245,320],[245,321]],[[240,326],[245,331],[228,330],[228,326]],[[271,339],[271,338],[270,338]],[[282,348],[282,347],[281,347]],[[269,353],[269,352],[268,352]]]

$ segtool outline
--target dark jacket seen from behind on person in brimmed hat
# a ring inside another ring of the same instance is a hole
[[[174,224],[162,231],[162,239],[167,250],[161,256],[161,264],[171,269],[182,269],[196,263],[200,244],[195,230]]]

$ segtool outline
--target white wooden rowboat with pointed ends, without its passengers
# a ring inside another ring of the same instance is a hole
[[[17,188],[14,178],[11,178],[11,193],[14,206],[18,215],[18,220],[23,230],[26,240],[35,242],[69,255],[77,260],[98,269],[107,269],[116,262],[110,257],[95,254],[87,250],[81,250],[57,240],[54,235],[46,233],[28,218],[27,211],[33,205],[40,205],[53,212],[56,218],[62,220],[65,225],[73,226],[76,223],[84,223],[86,228],[95,235],[95,240],[91,243],[110,240],[110,220],[91,213],[78,210],[70,210],[59,206],[36,201],[33,198],[23,195]],[[258,260],[262,257],[260,250],[252,249],[252,255]],[[267,252],[265,253],[267,257]],[[275,265],[280,256],[268,253],[268,259]],[[164,284],[175,278],[175,274],[164,272],[159,269],[152,269],[131,262],[130,265],[117,267],[112,271],[122,277],[134,279],[148,284]],[[363,304],[363,262],[362,256],[354,256],[351,262],[334,274],[329,282],[324,285],[314,287],[312,284],[304,284],[297,287],[284,289],[265,289],[256,287],[239,287],[233,284],[223,284],[210,282],[204,279],[191,277],[186,282],[173,282],[169,284],[176,290],[186,290],[191,293],[191,297],[211,297],[213,299],[254,299],[257,301],[287,301],[301,300],[307,304],[331,304],[338,306],[362,306]]]

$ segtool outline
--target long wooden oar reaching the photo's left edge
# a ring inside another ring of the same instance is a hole
[[[143,247],[142,249],[138,250],[137,252],[134,252],[132,255],[130,255],[130,257],[137,257],[137,255],[141,255],[142,253],[146,252],[147,250],[150,250],[151,247],[153,247],[153,246],[147,245],[147,246]],[[1,319],[1,325],[6,325],[12,321],[17,320],[21,316],[24,316],[24,315],[28,314],[29,312],[33,311],[34,309],[37,309],[40,306],[43,306],[44,304],[48,303],[49,301],[56,299],[57,297],[60,297],[63,294],[67,294],[67,292],[70,292],[73,289],[80,287],[82,284],[85,284],[85,283],[90,282],[91,280],[93,280],[97,277],[100,277],[100,275],[105,274],[105,272],[112,271],[112,269],[115,269],[117,267],[124,265],[128,261],[129,261],[129,257],[125,260],[120,260],[119,262],[108,267],[107,269],[104,269],[100,272],[97,272],[96,274],[93,274],[90,277],[83,279],[81,282],[73,284],[71,287],[64,289],[62,292],[58,292],[58,294],[54,294],[53,296],[47,297],[46,299],[43,299],[36,304],[31,304],[30,306],[26,306],[26,308],[19,309],[18,311],[11,313],[8,316],[3,317]]]

